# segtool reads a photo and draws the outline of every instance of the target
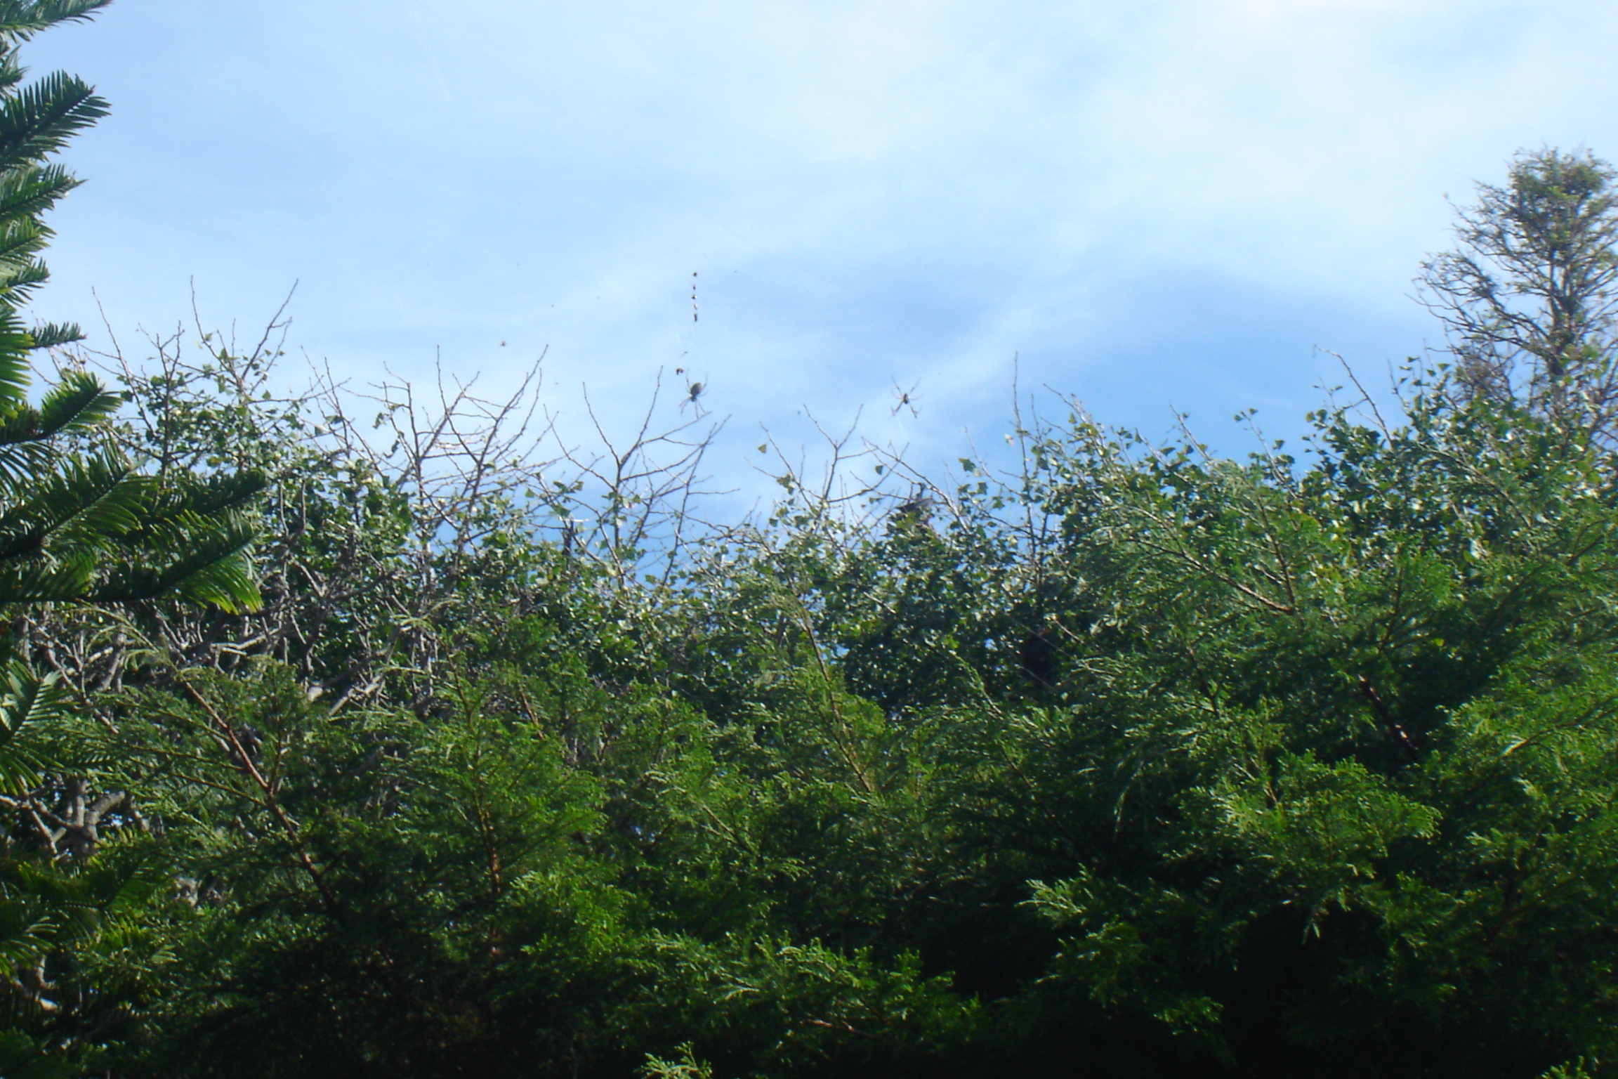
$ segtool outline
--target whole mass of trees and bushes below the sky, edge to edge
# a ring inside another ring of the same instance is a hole
[[[545,461],[273,335],[29,403],[104,105],[13,53],[5,1076],[1618,1074],[1605,163],[1484,189],[1396,411],[1230,458],[1069,401],[717,526],[701,430]],[[1584,277],[1497,286],[1542,218]]]

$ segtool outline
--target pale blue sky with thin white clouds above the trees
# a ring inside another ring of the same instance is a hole
[[[120,0],[29,45],[113,104],[39,309],[91,324],[94,288],[131,338],[194,280],[248,327],[298,281],[293,345],[356,383],[549,348],[565,416],[589,383],[628,422],[683,366],[736,459],[861,403],[953,459],[1013,356],[1239,450],[1236,409],[1299,429],[1315,346],[1437,343],[1445,194],[1618,157],[1615,53],[1584,0]]]

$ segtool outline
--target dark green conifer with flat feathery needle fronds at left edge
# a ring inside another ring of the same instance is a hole
[[[44,215],[78,180],[49,159],[107,113],[84,81],[28,86],[18,50],[42,29],[83,21],[110,0],[0,0],[0,610],[129,602],[180,592],[228,610],[257,603],[241,506],[254,476],[144,474],[107,437],[120,398],[76,369],[29,403],[32,356],[79,338],[76,325],[26,328],[19,306],[47,280]],[[6,652],[0,747],[49,679]],[[49,697],[49,694],[47,694]],[[0,762],[3,764],[3,762]]]

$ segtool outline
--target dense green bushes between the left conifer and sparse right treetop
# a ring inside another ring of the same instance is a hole
[[[178,882],[102,1064],[1603,1074],[1612,463],[1445,390],[1302,461],[1078,417],[937,523],[786,510],[644,586],[518,518],[422,560],[419,495],[285,406],[197,419],[303,463],[269,547],[356,599],[99,697],[87,781]]]

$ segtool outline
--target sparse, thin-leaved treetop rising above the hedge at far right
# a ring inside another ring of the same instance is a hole
[[[1422,264],[1468,395],[1518,400],[1610,442],[1618,421],[1618,173],[1589,152],[1521,152]]]

